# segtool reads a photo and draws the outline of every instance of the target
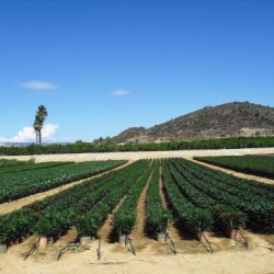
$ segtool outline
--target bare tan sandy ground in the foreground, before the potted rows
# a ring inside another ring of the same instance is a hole
[[[27,261],[23,261],[22,253],[28,250],[27,242],[12,247],[8,254],[0,255],[0,273],[27,274],[75,274],[75,273],[241,273],[271,274],[274,273],[274,239],[254,236],[246,232],[250,240],[250,248],[246,250],[241,244],[228,239],[215,238],[210,240],[214,254],[207,253],[196,241],[175,241],[178,255],[170,252],[165,244],[152,240],[144,240],[136,244],[137,255],[134,256],[127,248],[121,244],[102,243],[102,259],[98,261],[94,241],[85,251],[69,251],[60,261],[56,261],[57,247],[46,252],[36,252]],[[272,243],[271,243],[272,242]]]

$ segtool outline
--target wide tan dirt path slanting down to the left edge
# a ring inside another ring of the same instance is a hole
[[[68,190],[68,189],[72,187],[72,186],[75,186],[77,184],[80,184],[80,183],[87,181],[87,180],[100,178],[100,176],[102,176],[102,175],[104,175],[106,173],[110,173],[112,171],[124,169],[125,167],[132,164],[133,162],[134,161],[128,161],[125,164],[122,164],[122,165],[119,165],[117,168],[104,171],[104,172],[102,172],[102,173],[100,173],[98,175],[85,178],[85,179],[82,179],[82,180],[79,180],[79,181],[76,181],[76,182],[72,182],[72,183],[68,183],[68,184],[55,187],[55,189],[46,191],[46,192],[37,193],[37,194],[34,194],[34,195],[31,195],[31,196],[27,196],[27,197],[16,199],[16,201],[13,201],[13,202],[10,202],[10,203],[9,202],[3,203],[3,204],[0,205],[0,215],[16,210],[16,209],[19,209],[19,208],[21,208],[21,207],[23,207],[25,205],[33,204],[34,202],[41,201],[41,199],[43,199],[43,198],[45,198],[47,196],[52,196],[52,195],[57,194],[57,193],[59,193],[61,191]]]

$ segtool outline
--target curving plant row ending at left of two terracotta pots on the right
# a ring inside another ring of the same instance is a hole
[[[174,217],[189,232],[196,236],[213,228],[213,216],[208,208],[198,208],[182,195],[170,173],[168,160],[163,161],[163,185]]]

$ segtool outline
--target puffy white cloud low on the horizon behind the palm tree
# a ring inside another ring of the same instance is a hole
[[[42,138],[43,140],[54,140],[54,134],[59,128],[58,124],[45,124],[42,129]],[[24,141],[35,141],[35,132],[33,127],[25,126],[19,133],[11,137],[5,138],[0,136],[0,142],[8,142],[8,141],[15,141],[15,142],[24,142]]]

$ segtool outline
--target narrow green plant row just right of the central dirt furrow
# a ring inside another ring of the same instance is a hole
[[[171,214],[163,207],[160,195],[160,160],[157,160],[146,196],[146,231],[151,238],[165,233]]]

